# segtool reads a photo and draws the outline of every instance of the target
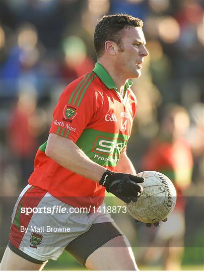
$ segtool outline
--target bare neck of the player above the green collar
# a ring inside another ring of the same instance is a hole
[[[125,78],[123,75],[117,71],[117,67],[115,67],[114,63],[111,63],[110,61],[106,61],[106,59],[101,58],[98,60],[98,62],[103,65],[105,70],[108,72],[108,74],[113,79],[115,86],[117,87],[118,92],[123,95],[124,85],[127,81],[127,78]]]

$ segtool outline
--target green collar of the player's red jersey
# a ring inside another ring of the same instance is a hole
[[[117,87],[115,86],[113,79],[100,63],[96,62],[93,72],[100,78],[100,80],[105,84],[108,89],[114,89],[115,91],[117,91]],[[124,91],[126,91],[131,86],[132,82],[130,80],[127,80],[124,86]]]

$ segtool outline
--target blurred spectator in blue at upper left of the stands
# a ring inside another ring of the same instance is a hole
[[[2,28],[3,31],[4,28]],[[1,63],[0,77],[4,80],[3,97],[12,99],[18,96],[22,83],[32,84],[37,92],[41,93],[44,89],[44,82],[42,82],[44,72],[40,70],[43,49],[35,26],[24,23],[12,38],[6,38],[7,43],[4,46],[7,57]],[[17,39],[17,44],[13,43],[12,39]],[[10,50],[7,50],[7,47]]]

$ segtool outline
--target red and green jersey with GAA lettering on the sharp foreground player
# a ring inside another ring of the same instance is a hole
[[[49,132],[72,140],[92,161],[114,171],[137,107],[130,86],[127,81],[122,98],[107,71],[96,63],[91,73],[62,92]],[[45,155],[45,148],[46,142],[37,151],[29,184],[75,207],[99,206],[105,188],[60,166]]]

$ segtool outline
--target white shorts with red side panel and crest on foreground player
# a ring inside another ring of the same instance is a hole
[[[96,213],[75,210],[50,193],[27,185],[14,208],[10,244],[39,261],[56,260],[71,241],[93,224],[114,223],[104,207],[102,203]]]

